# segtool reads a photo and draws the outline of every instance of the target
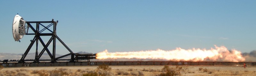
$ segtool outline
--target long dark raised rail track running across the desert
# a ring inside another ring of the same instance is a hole
[[[256,62],[174,62],[174,61],[94,61],[94,62],[40,62],[40,63],[0,63],[4,67],[24,67],[24,66],[90,66],[90,65],[207,65],[207,66],[256,66]]]

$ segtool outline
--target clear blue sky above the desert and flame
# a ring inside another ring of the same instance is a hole
[[[59,20],[57,35],[73,52],[210,49],[214,45],[250,52],[256,50],[255,8],[255,0],[1,0],[0,52],[24,53],[34,37],[25,35],[21,42],[14,42],[11,29],[17,13],[26,21]],[[59,42],[56,50],[68,53]]]

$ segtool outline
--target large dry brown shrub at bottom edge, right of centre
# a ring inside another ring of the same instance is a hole
[[[175,68],[169,67],[167,65],[164,65],[162,69],[162,73],[160,76],[174,76],[174,75],[180,75],[180,71],[182,71],[182,66],[176,66]]]

